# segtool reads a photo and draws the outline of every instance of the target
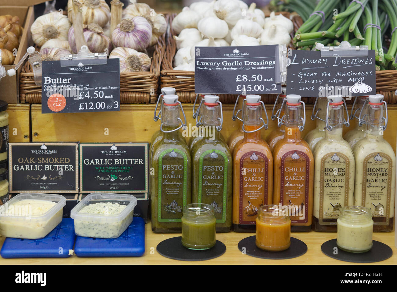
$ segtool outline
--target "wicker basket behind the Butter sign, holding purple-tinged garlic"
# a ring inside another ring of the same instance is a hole
[[[165,15],[168,21],[169,15]],[[160,67],[165,50],[165,34],[152,48],[153,57],[148,72],[120,73],[120,102],[123,104],[155,103],[158,96]],[[35,79],[29,62],[19,75],[19,102],[41,103],[41,87]]]

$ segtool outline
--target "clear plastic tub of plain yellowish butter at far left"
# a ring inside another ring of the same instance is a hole
[[[65,205],[62,195],[20,193],[0,206],[0,235],[43,238],[62,221]]]

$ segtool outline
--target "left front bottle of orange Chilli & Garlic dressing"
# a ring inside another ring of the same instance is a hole
[[[262,108],[266,122],[262,118]],[[233,153],[233,230],[255,232],[262,205],[272,203],[273,158],[260,130],[268,127],[265,105],[259,95],[247,95],[243,105],[244,139]]]

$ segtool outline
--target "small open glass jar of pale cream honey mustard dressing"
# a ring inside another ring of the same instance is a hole
[[[366,252],[372,248],[371,210],[361,206],[345,206],[337,220],[338,248],[349,252]]]

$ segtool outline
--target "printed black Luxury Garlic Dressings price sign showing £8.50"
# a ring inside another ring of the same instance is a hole
[[[281,93],[278,45],[195,47],[195,92]]]

